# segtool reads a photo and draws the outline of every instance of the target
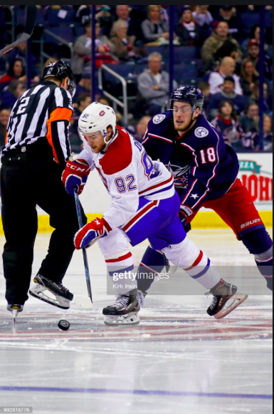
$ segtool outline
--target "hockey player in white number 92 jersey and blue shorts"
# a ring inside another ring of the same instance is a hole
[[[83,191],[90,170],[98,170],[112,203],[103,214],[75,234],[76,249],[98,242],[110,276],[133,270],[129,242],[136,246],[149,239],[154,249],[183,268],[189,276],[211,292],[218,292],[208,314],[221,318],[246,300],[237,296],[236,286],[221,279],[210,259],[191,240],[179,220],[179,196],[172,174],[161,162],[152,162],[146,151],[127,131],[116,125],[115,112],[100,103],[92,103],[79,120],[84,150],[78,160],[68,161],[63,184],[73,196],[75,187]],[[139,324],[142,292],[137,282],[128,291],[117,288],[117,300],[103,309],[105,324]],[[226,306],[233,299],[231,306]]]

